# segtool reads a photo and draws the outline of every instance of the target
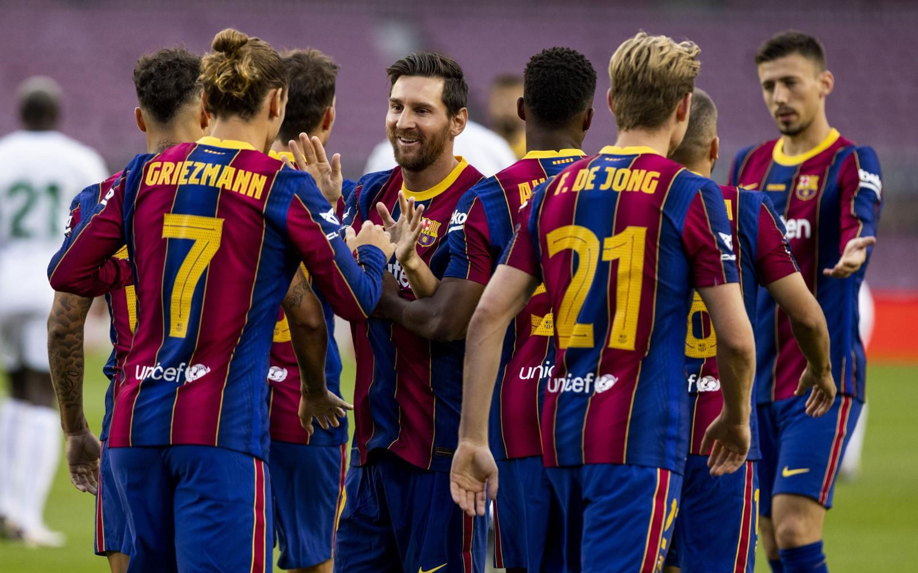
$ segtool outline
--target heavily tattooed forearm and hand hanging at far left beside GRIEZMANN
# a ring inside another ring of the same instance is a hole
[[[77,490],[95,495],[101,446],[83,412],[83,327],[93,299],[55,292],[48,316],[48,363],[67,438],[67,465]]]

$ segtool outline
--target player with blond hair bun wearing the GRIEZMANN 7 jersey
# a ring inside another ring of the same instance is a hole
[[[325,385],[321,308],[285,293],[302,260],[336,312],[364,317],[393,251],[372,225],[345,245],[314,180],[266,155],[284,119],[280,55],[234,29],[212,45],[200,78],[212,136],[132,160],[49,268],[55,289],[95,294],[100,264],[128,245],[138,321],[108,452],[130,573],[271,569],[264,376],[277,308],[302,369],[303,424],[336,425],[350,405]]]

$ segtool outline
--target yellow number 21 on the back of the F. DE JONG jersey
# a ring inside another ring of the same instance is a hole
[[[561,226],[545,237],[549,257],[570,249],[577,253],[578,259],[577,271],[571,277],[555,321],[559,347],[596,346],[592,323],[578,323],[577,317],[587,300],[601,257],[606,261],[619,261],[616,273],[615,317],[612,319],[609,347],[634,349],[637,319],[641,308],[641,287],[644,283],[646,235],[646,227],[629,226],[618,235],[606,237],[601,250],[599,238],[585,226]]]

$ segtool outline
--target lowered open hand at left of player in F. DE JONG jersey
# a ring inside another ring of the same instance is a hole
[[[459,440],[450,468],[450,493],[471,517],[485,514],[486,495],[498,499],[498,465],[487,444]]]

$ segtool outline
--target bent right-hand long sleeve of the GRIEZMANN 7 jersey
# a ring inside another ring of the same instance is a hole
[[[311,178],[304,181],[287,210],[287,236],[335,314],[364,320],[379,302],[386,257],[379,248],[364,245],[355,260],[329,202]]]

